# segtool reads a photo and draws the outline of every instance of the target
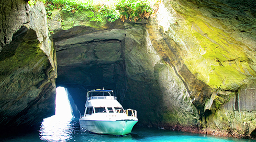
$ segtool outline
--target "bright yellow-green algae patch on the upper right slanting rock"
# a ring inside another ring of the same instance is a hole
[[[191,53],[193,56],[185,56],[184,64],[193,74],[197,74],[199,80],[203,80],[212,88],[237,90],[244,79],[256,75],[248,62],[233,62],[241,58],[246,59],[248,56],[243,49],[246,45],[218,28],[218,26],[227,27],[215,19],[204,17],[195,9],[184,7],[186,10],[175,7],[174,9],[185,18],[186,26],[190,27],[190,31],[182,29],[183,32],[191,32],[191,38],[196,38],[199,44],[199,46],[191,46],[190,50],[200,51],[200,54],[194,52]],[[213,26],[210,21],[217,22],[218,25]]]

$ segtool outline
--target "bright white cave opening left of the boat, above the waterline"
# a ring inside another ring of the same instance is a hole
[[[64,87],[56,88],[56,107],[55,107],[55,115],[72,118],[70,102],[68,99],[68,93]]]

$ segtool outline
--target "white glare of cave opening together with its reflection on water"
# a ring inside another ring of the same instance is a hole
[[[72,113],[68,94],[63,87],[56,89],[55,115],[43,119],[40,127],[40,139],[44,141],[66,141],[72,139],[75,123],[72,122]]]

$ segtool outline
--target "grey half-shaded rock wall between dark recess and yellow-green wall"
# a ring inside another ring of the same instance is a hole
[[[143,126],[196,127],[198,113],[186,87],[175,69],[155,50],[145,25],[126,22],[125,27],[127,91],[124,106],[138,110]]]

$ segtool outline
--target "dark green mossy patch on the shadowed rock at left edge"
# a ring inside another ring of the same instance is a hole
[[[47,66],[49,66],[49,61],[47,55],[39,48],[39,41],[37,39],[26,40],[19,45],[14,56],[0,62],[0,80],[20,68],[27,72],[29,70],[38,72]]]

